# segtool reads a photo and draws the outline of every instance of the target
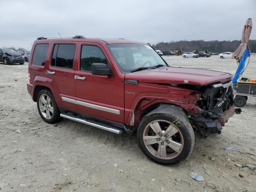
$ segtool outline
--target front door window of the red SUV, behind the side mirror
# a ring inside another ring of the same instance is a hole
[[[104,63],[107,65],[108,61],[102,50],[97,46],[83,45],[80,57],[80,70],[92,71],[93,63]]]

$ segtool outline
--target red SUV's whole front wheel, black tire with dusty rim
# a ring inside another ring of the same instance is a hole
[[[137,139],[140,149],[148,158],[159,164],[172,165],[179,163],[190,155],[195,142],[194,130],[191,124],[181,116],[178,114],[156,113],[142,119],[138,126]],[[162,133],[158,132],[157,134],[157,131],[154,131],[157,130],[156,124],[160,125]],[[167,130],[168,125],[172,131]],[[173,134],[173,129],[177,133]],[[165,133],[166,131],[169,133]],[[170,137],[168,134],[173,136]],[[153,138],[152,141],[151,138],[151,142],[146,144],[147,136],[152,136],[155,140]],[[170,146],[174,147],[175,150]]]

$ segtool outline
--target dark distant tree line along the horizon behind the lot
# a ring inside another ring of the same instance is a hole
[[[193,40],[193,41],[171,41],[171,42],[158,42],[157,44],[150,44],[155,50],[161,51],[174,51],[177,48],[182,48],[182,50],[186,50],[190,52],[195,49],[208,49],[208,51],[212,51],[215,53],[221,52],[234,52],[236,48],[240,45],[240,40],[234,41],[204,41],[204,40]],[[250,47],[251,52],[256,52],[256,40],[249,40],[248,45]]]

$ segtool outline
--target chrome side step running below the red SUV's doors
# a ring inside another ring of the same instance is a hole
[[[93,127],[96,127],[96,128],[102,129],[102,130],[106,130],[106,131],[109,131],[109,132],[112,132],[112,133],[115,133],[115,134],[119,134],[119,135],[122,134],[121,129],[112,127],[112,126],[107,125],[107,124],[103,124],[103,123],[96,122],[96,121],[89,120],[89,119],[85,119],[85,118],[80,118],[78,116],[74,116],[74,115],[68,114],[68,113],[61,113],[60,116],[63,117],[63,118],[69,119],[69,120],[73,120],[73,121],[80,122],[80,123],[83,123],[83,124],[86,124],[86,125],[90,125],[90,126],[93,126]]]

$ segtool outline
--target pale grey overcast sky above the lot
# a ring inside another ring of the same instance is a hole
[[[0,0],[0,47],[31,49],[40,36],[84,35],[142,42],[256,39],[256,0]]]

